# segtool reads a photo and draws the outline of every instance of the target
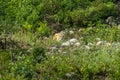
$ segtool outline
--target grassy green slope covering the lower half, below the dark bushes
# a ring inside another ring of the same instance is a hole
[[[60,42],[52,40],[52,36],[45,39],[30,32],[12,34],[12,40],[23,45],[0,50],[0,80],[119,80],[119,29],[75,31],[77,37],[72,37],[78,39],[79,47],[61,47],[69,39],[68,33]],[[30,47],[24,48],[27,44]]]

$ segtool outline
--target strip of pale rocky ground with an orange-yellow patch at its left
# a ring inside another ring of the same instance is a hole
[[[120,26],[120,25],[119,25]],[[118,29],[119,29],[118,26]],[[102,40],[99,37],[95,37],[91,42],[84,43],[84,37],[79,35],[83,29],[79,30],[65,30],[60,33],[56,33],[53,36],[53,40],[57,42],[53,46],[49,47],[48,53],[67,53],[69,49],[71,52],[76,49],[81,50],[93,50],[99,49],[101,47],[118,49],[120,48],[120,42],[111,42],[107,40]],[[64,33],[64,34],[63,34]],[[67,49],[67,50],[66,50]]]

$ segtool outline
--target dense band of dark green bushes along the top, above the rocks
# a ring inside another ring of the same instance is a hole
[[[103,21],[108,16],[118,15],[115,2],[116,0],[1,1],[0,16],[1,21],[5,20],[10,24],[16,22],[24,25],[27,22],[33,29],[43,21],[47,24],[60,22],[70,27],[86,27],[90,23],[96,25],[98,20]]]

